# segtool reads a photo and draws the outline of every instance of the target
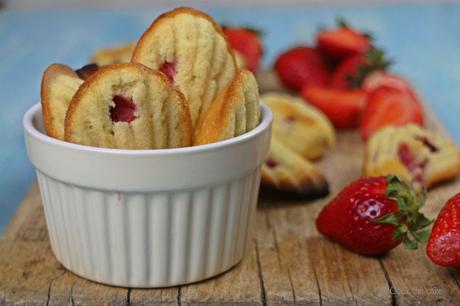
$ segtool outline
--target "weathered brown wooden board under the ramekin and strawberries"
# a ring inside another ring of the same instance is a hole
[[[262,89],[276,89],[271,75]],[[427,112],[429,128],[445,131]],[[424,248],[402,246],[379,257],[363,257],[323,238],[315,228],[321,207],[351,179],[360,176],[362,143],[356,132],[341,132],[336,149],[318,162],[330,183],[328,197],[288,201],[261,194],[252,247],[231,271],[177,288],[115,288],[66,271],[48,242],[37,184],[0,239],[0,304],[362,304],[455,305],[460,303],[460,271],[430,263]],[[460,180],[429,193],[424,208],[435,217],[460,191]]]

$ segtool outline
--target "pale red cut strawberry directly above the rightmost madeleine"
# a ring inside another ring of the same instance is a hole
[[[387,125],[415,123],[423,126],[423,121],[423,107],[415,96],[407,91],[380,86],[367,96],[359,130],[361,137],[367,139]]]

